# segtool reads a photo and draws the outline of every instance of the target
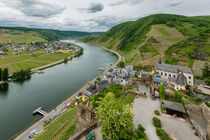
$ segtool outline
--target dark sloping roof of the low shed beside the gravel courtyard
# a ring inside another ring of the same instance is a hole
[[[176,102],[171,102],[171,101],[163,101],[163,106],[166,109],[170,109],[170,110],[174,110],[174,111],[178,111],[178,112],[182,112],[182,113],[186,113],[184,106],[180,103],[176,103]]]

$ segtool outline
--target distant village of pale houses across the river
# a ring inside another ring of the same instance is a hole
[[[7,55],[10,48],[13,48],[13,54],[19,54],[20,51],[30,51],[34,52],[38,49],[44,49],[46,53],[55,53],[57,50],[67,50],[69,52],[77,52],[80,48],[73,44],[61,41],[51,41],[51,42],[34,42],[30,44],[20,43],[2,43],[0,44],[0,55]]]

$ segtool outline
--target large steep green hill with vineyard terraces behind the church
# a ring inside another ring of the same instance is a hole
[[[166,63],[192,67],[194,60],[210,60],[209,29],[210,16],[155,14],[82,41],[119,52],[127,64],[154,65],[161,56]]]

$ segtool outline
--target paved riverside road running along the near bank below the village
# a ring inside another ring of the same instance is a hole
[[[108,49],[106,49],[108,50]],[[37,121],[35,124],[33,124],[32,126],[30,126],[28,129],[26,129],[23,133],[21,133],[20,135],[18,135],[15,140],[30,140],[29,138],[29,135],[30,135],[30,132],[36,130],[38,132],[41,132],[43,130],[43,124],[44,124],[44,121],[47,121],[49,120],[50,118],[54,118],[55,116],[58,116],[60,114],[62,114],[65,110],[66,110],[66,106],[67,104],[73,99],[75,98],[78,93],[81,91],[81,89],[86,89],[89,87],[90,84],[94,84],[95,80],[98,78],[98,77],[102,77],[105,73],[108,72],[108,70],[110,68],[114,68],[117,66],[117,64],[121,61],[122,57],[117,53],[117,52],[114,52],[114,51],[111,51],[113,53],[115,53],[117,56],[118,56],[118,60],[113,64],[111,65],[109,68],[106,68],[104,70],[103,73],[101,73],[99,76],[97,76],[96,78],[92,79],[91,81],[89,81],[88,83],[86,83],[83,87],[81,87],[76,93],[74,93],[70,98],[66,99],[63,103],[61,103],[60,105],[58,105],[56,107],[56,109],[52,110],[51,112],[47,113],[42,119],[40,119],[39,121]],[[33,111],[33,110],[32,110]],[[31,112],[32,112],[31,111]]]

